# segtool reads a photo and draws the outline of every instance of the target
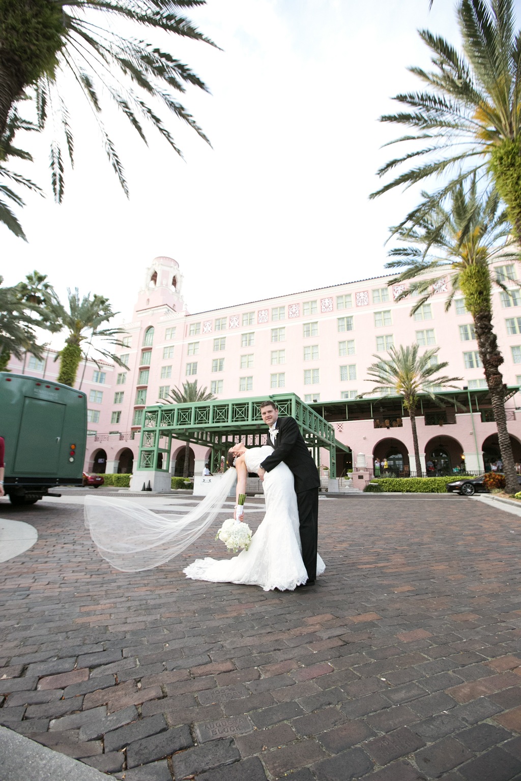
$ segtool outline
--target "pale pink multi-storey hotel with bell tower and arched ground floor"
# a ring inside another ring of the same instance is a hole
[[[514,266],[497,264],[505,279]],[[464,461],[480,471],[499,456],[472,319],[462,298],[444,312],[448,280],[430,302],[410,316],[411,301],[395,301],[401,288],[389,276],[250,301],[189,314],[183,275],[171,258],[155,258],[148,269],[130,322],[125,347],[117,348],[128,370],[88,361],[77,387],[87,392],[87,472],[129,472],[137,463],[142,411],[170,389],[197,380],[219,399],[294,393],[323,414],[337,440],[351,448],[352,465],[372,468],[387,458],[399,473],[414,472],[409,418],[399,397],[357,399],[372,387],[366,368],[394,344],[439,346],[444,373],[461,376],[460,391],[446,394],[440,409],[423,400],[417,419],[423,464],[451,471]],[[494,326],[505,358],[506,402],[514,457],[521,462],[521,293],[494,291]],[[9,369],[53,380],[57,363],[48,358],[12,360]],[[210,452],[191,446],[191,473],[200,473]],[[321,451],[322,465],[329,454]],[[184,443],[172,449],[171,473],[182,474]],[[351,467],[338,451],[337,476]]]

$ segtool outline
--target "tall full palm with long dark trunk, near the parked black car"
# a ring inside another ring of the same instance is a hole
[[[430,216],[423,216],[416,228],[398,230],[398,234],[412,241],[413,246],[396,248],[389,253],[394,260],[387,263],[387,267],[402,269],[389,284],[409,282],[409,287],[398,298],[419,294],[411,314],[439,289],[442,280],[450,280],[451,286],[446,309],[457,292],[463,294],[473,319],[491,394],[505,471],[505,490],[515,494],[519,485],[506,423],[505,384],[499,369],[504,359],[492,325],[492,282],[504,290],[506,287],[491,264],[500,259],[502,262],[518,259],[518,250],[513,245],[509,219],[497,191],[491,189],[483,199],[480,198],[473,176],[468,194],[463,184],[458,184],[447,200],[447,207],[444,203],[438,204]],[[441,255],[433,255],[431,251]]]

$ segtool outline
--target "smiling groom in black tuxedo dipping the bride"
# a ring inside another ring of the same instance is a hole
[[[306,586],[312,586],[316,578],[316,547],[319,519],[319,472],[312,455],[298,430],[297,422],[289,415],[279,419],[279,408],[273,401],[262,401],[262,420],[269,426],[269,441],[273,453],[265,458],[259,469],[264,478],[281,461],[291,469],[297,494],[298,520],[302,542],[302,560],[308,572]]]

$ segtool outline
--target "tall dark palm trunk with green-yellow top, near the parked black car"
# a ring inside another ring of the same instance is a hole
[[[468,266],[462,273],[461,288],[465,295],[466,308],[473,317],[477,347],[491,394],[492,411],[498,430],[499,450],[505,473],[505,491],[507,494],[516,494],[519,490],[519,482],[506,425],[505,383],[499,371],[504,359],[492,327],[491,277],[488,267],[481,263]]]

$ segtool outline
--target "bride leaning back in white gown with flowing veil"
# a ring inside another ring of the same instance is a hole
[[[222,512],[235,480],[237,500],[238,494],[244,494],[248,472],[256,472],[272,449],[263,445],[247,450],[244,445],[235,445],[229,456],[235,461],[235,469],[228,469],[208,496],[184,515],[158,515],[131,501],[85,497],[85,525],[100,555],[123,572],[152,569],[168,562],[209,528]],[[214,583],[248,583],[265,591],[293,590],[305,583],[293,475],[282,462],[266,473],[263,485],[266,515],[248,551],[230,559],[197,559],[184,570],[187,577]],[[317,574],[324,569],[318,556]]]

